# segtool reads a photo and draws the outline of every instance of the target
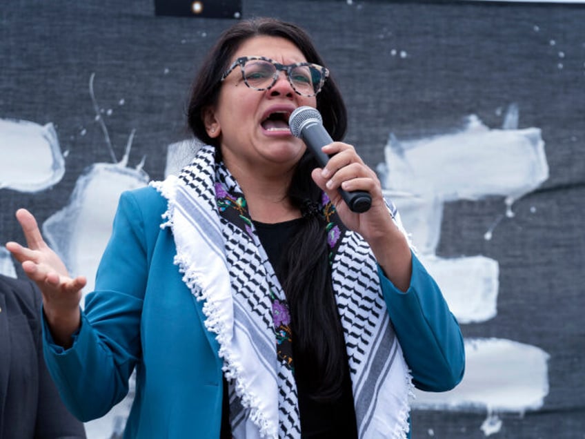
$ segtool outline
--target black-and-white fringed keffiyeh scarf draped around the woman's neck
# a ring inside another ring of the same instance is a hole
[[[246,200],[215,149],[202,147],[178,177],[154,182],[168,200],[175,264],[203,301],[219,342],[235,438],[300,438],[293,370],[277,354],[286,297]],[[366,242],[324,196],[335,300],[344,329],[360,438],[406,438],[411,380]]]

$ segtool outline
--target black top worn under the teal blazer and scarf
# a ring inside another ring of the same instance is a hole
[[[282,249],[301,226],[302,219],[293,219],[277,224],[254,222],[258,237],[272,267],[281,280]],[[294,329],[293,329],[294,335]],[[343,337],[339,333],[340,338]],[[293,339],[293,344],[294,344]],[[346,359],[346,368],[348,363]],[[317,402],[308,396],[307,384],[295,375],[301,416],[301,437],[316,438],[357,438],[355,409],[349,371],[346,369],[346,379],[343,383],[343,392],[339,400],[333,402]],[[231,438],[229,421],[228,384],[224,378],[224,403],[221,415],[221,439]]]

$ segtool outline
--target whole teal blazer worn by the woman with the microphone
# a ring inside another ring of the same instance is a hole
[[[99,418],[128,393],[135,400],[124,438],[219,438],[223,398],[219,344],[204,326],[202,303],[181,280],[167,203],[152,187],[123,193],[112,237],[86,296],[70,349],[43,325],[48,368],[80,420]],[[415,385],[455,387],[464,373],[459,326],[438,286],[413,255],[406,293],[379,271],[390,318]]]

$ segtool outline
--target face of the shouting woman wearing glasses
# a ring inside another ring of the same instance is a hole
[[[288,39],[253,37],[242,43],[231,61],[260,56],[280,64],[307,61]],[[219,78],[218,78],[219,80]],[[298,95],[285,72],[268,90],[254,90],[244,83],[239,66],[221,84],[217,106],[205,113],[210,137],[219,137],[226,166],[232,173],[279,173],[291,170],[305,145],[288,129],[288,117],[299,106],[317,106],[315,97]]]

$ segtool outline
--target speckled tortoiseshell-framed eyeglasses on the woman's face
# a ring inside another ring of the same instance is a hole
[[[237,66],[241,68],[241,77],[246,86],[254,90],[268,90],[276,84],[279,72],[286,72],[290,86],[297,95],[312,97],[321,91],[325,80],[329,76],[329,70],[317,64],[295,63],[279,64],[273,59],[265,57],[241,57],[221,76],[221,81]]]

